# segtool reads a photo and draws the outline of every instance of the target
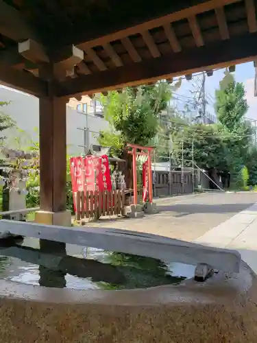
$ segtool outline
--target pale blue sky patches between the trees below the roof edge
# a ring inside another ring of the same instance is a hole
[[[206,77],[206,99],[208,101],[207,110],[210,113],[215,113],[213,104],[215,102],[215,89],[219,88],[219,82],[224,77],[225,69],[213,71],[213,75]],[[257,120],[257,97],[254,97],[254,63],[247,62],[236,65],[236,71],[233,73],[236,82],[243,82],[245,85],[245,93],[249,110],[246,114],[247,118]],[[193,80],[183,80],[182,85],[175,93],[176,104],[178,108],[184,107],[184,102],[190,104],[190,97],[192,97],[192,91],[195,90],[194,86],[201,84],[201,75],[194,76]]]

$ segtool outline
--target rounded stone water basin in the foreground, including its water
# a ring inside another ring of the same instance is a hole
[[[0,342],[257,342],[256,276],[25,239],[1,247]]]

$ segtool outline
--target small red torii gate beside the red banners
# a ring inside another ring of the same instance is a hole
[[[154,150],[154,147],[144,147],[137,144],[127,143],[127,147],[131,147],[132,150],[129,151],[129,154],[132,154],[132,170],[133,170],[133,190],[134,190],[134,204],[138,203],[138,187],[137,187],[137,175],[136,175],[136,156],[147,155],[148,160],[148,183],[149,183],[149,202],[153,202],[153,184],[151,176],[151,152]],[[137,152],[136,150],[140,150]]]

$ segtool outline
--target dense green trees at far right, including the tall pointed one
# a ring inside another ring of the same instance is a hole
[[[173,163],[181,165],[183,155],[184,166],[191,167],[193,158],[203,169],[230,171],[234,182],[242,187],[246,186],[241,170],[247,165],[250,182],[257,182],[257,150],[253,146],[254,130],[245,119],[248,109],[245,89],[228,72],[216,91],[215,108],[219,124],[189,124],[180,119],[180,123],[169,128],[165,139],[166,143],[167,139],[173,142]]]

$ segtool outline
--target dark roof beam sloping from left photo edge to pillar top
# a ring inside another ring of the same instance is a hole
[[[47,97],[47,83],[32,73],[16,70],[6,64],[0,64],[0,83],[37,97]]]

